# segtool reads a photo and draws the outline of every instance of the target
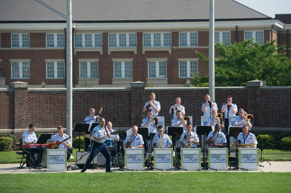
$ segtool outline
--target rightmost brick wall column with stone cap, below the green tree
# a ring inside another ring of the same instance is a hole
[[[254,116],[254,127],[262,127],[262,96],[261,87],[266,86],[265,81],[252,80],[246,82],[247,88],[247,110],[248,114]],[[255,129],[256,130],[256,129]]]

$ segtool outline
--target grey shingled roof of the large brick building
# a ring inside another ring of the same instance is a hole
[[[66,15],[65,0],[0,0],[0,21],[66,21],[50,8]],[[72,0],[72,19],[78,22],[208,20],[209,0]],[[272,18],[234,0],[216,0],[215,19]]]

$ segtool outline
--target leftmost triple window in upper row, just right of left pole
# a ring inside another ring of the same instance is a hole
[[[75,34],[75,47],[102,47],[102,34]]]

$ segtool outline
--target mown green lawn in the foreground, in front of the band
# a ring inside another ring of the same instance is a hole
[[[27,179],[27,180],[25,180]],[[25,181],[25,182],[24,182]],[[291,192],[291,173],[117,172],[0,174],[3,192]]]

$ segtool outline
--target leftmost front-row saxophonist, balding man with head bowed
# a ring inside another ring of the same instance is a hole
[[[132,134],[126,136],[123,142],[123,148],[142,148],[144,145],[144,140],[142,135],[137,134],[138,128],[136,125],[132,127]],[[144,151],[144,157],[147,156],[147,152]]]

